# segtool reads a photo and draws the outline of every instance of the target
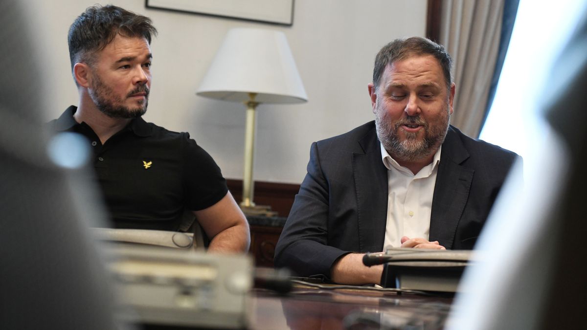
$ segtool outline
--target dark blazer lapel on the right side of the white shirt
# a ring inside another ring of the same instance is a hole
[[[451,126],[452,127],[452,126]],[[453,129],[442,146],[430,215],[430,241],[446,248],[453,246],[457,225],[469,196],[474,170],[461,166],[469,157]]]

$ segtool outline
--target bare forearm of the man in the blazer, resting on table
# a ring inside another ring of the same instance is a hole
[[[367,267],[363,265],[363,255],[350,253],[332,265],[332,281],[339,284],[363,285],[380,284],[383,265]]]

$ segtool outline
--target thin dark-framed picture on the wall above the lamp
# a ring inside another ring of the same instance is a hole
[[[288,26],[294,22],[294,0],[146,0],[145,6]]]

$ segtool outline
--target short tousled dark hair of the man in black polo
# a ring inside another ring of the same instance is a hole
[[[149,44],[151,35],[157,35],[150,18],[134,14],[123,8],[106,5],[92,6],[77,16],[69,27],[69,60],[92,64],[95,53],[104,49],[117,34],[127,37],[144,37]]]

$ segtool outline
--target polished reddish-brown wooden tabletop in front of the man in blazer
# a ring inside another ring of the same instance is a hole
[[[447,295],[336,285],[296,284],[287,295],[254,289],[248,304],[249,328],[442,329],[451,302]]]

